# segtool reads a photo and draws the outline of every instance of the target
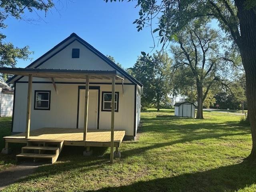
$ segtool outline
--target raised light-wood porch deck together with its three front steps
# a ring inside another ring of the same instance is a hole
[[[118,148],[124,138],[124,130],[114,131],[114,155],[120,157]],[[56,162],[62,148],[66,146],[86,147],[84,156],[90,156],[90,147],[111,147],[111,130],[88,129],[86,141],[84,140],[84,129],[77,128],[41,128],[30,131],[30,137],[26,133],[5,136],[5,149],[9,143],[26,143],[22,152],[16,155],[18,158],[49,159],[51,163]]]

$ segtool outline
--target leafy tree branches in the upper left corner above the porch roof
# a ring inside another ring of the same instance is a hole
[[[47,2],[41,0],[1,1],[0,28],[3,30],[7,27],[4,22],[8,17],[13,17],[18,20],[26,20],[23,17],[25,10],[28,10],[29,12],[43,10],[47,12],[53,6],[54,4],[51,0],[48,0]],[[5,38],[6,36],[3,33],[0,33],[0,67],[15,67],[17,59],[27,60],[29,58],[29,55],[32,52],[29,51],[28,46],[23,48],[15,47],[11,42],[6,42]],[[8,76],[3,74],[0,75],[1,80],[6,80],[6,78],[8,78]]]

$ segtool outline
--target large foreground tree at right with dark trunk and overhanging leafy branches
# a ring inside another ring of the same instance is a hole
[[[108,0],[106,0],[107,2]],[[112,0],[110,0],[112,1]],[[124,1],[124,0],[119,0]],[[127,0],[131,1],[131,0]],[[151,26],[154,19],[163,47],[176,38],[177,31],[195,18],[217,19],[238,48],[246,73],[246,97],[252,132],[252,151],[249,160],[256,160],[256,2],[255,0],[138,0],[139,18],[134,21],[138,31]],[[159,14],[159,15],[158,15]]]

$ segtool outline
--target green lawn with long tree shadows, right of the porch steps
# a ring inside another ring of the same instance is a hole
[[[176,118],[173,110],[142,113],[139,140],[109,149],[64,147],[58,161],[4,191],[255,192],[256,166],[244,162],[252,145],[240,116],[204,112],[204,120]],[[8,158],[8,157],[6,157]]]

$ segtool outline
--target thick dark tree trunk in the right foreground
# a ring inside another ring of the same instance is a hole
[[[256,14],[244,8],[245,0],[236,0],[240,20],[241,41],[238,43],[246,74],[246,96],[250,112],[252,151],[248,160],[256,160]]]

